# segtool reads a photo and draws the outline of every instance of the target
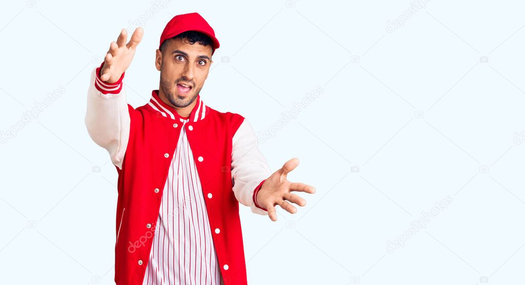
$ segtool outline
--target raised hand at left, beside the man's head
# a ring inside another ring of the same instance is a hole
[[[142,40],[144,30],[138,27],[131,35],[128,43],[128,32],[126,29],[120,31],[117,42],[112,41],[109,45],[108,53],[104,57],[104,65],[100,70],[100,79],[108,83],[115,83],[120,79],[122,73],[128,69],[131,60],[135,56],[135,49]]]

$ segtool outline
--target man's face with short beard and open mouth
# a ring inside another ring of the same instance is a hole
[[[160,88],[176,107],[193,103],[208,77],[212,47],[185,39],[169,39],[161,52],[156,50],[155,65],[161,72]]]

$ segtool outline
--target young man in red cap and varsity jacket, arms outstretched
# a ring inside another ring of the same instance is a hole
[[[272,174],[248,121],[204,104],[199,91],[219,42],[197,13],[167,23],[159,90],[129,105],[122,80],[142,35],[137,28],[126,43],[121,31],[88,91],[88,133],[119,174],[115,282],[246,284],[239,202],[277,221],[275,205],[296,213],[289,202],[306,200],[291,192],[315,189],[287,180],[297,158]]]

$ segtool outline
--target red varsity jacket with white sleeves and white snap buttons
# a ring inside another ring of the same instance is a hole
[[[103,82],[91,72],[85,123],[90,137],[105,148],[118,173],[115,282],[142,284],[159,215],[162,192],[181,127],[195,156],[220,272],[226,284],[246,284],[239,202],[267,215],[256,200],[271,175],[248,120],[204,105],[200,95],[190,122],[164,103],[158,90],[134,108],[126,101],[123,78]],[[198,119],[197,119],[198,118]],[[131,246],[133,245],[133,246]]]

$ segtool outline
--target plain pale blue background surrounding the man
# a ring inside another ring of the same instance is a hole
[[[145,104],[162,29],[190,12],[221,43],[205,102],[271,131],[272,170],[298,157],[289,179],[317,188],[277,222],[242,207],[250,284],[523,282],[523,2],[160,3],[2,3],[0,131],[17,135],[0,145],[0,283],[113,284],[117,172],[83,123],[90,72],[138,21],[124,82]]]

